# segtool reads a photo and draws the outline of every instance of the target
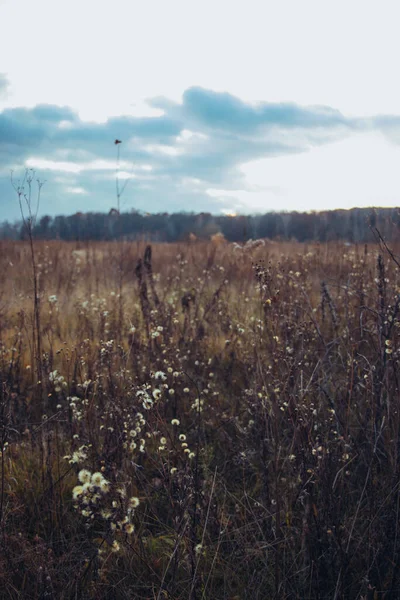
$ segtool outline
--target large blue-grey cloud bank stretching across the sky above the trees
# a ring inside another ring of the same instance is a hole
[[[7,88],[0,76],[0,92]],[[115,204],[116,138],[125,207],[220,212],[232,192],[251,192],[241,165],[290,156],[354,132],[382,131],[400,141],[400,117],[348,118],[328,106],[249,104],[222,92],[187,89],[182,102],[148,101],[156,116],[83,121],[67,106],[41,104],[0,112],[0,205],[17,216],[9,171],[34,167],[47,179],[42,213],[109,210]],[[221,195],[208,190],[221,190]]]

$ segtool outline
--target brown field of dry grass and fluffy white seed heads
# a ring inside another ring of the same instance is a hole
[[[0,251],[1,598],[400,597],[386,248]]]

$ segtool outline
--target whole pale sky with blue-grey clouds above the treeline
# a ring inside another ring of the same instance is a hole
[[[400,206],[399,22],[397,0],[0,0],[0,220],[11,171],[57,215],[115,208],[117,165],[123,211]]]

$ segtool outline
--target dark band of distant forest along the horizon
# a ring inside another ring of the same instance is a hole
[[[368,242],[377,228],[387,241],[400,239],[400,209],[354,208],[323,212],[269,212],[252,216],[210,213],[76,213],[38,219],[33,235],[41,240],[140,240],[177,242],[222,236],[230,242],[249,239]],[[0,239],[24,240],[23,223],[0,224]]]

